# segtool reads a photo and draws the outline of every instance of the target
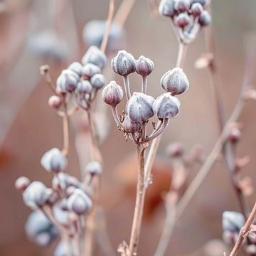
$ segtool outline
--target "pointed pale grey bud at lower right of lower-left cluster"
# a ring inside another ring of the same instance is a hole
[[[78,215],[87,213],[91,208],[92,200],[79,188],[68,198],[68,209]]]

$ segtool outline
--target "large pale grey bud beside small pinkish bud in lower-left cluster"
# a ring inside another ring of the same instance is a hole
[[[30,208],[36,209],[44,206],[47,200],[47,188],[40,181],[33,181],[23,192],[23,201]]]

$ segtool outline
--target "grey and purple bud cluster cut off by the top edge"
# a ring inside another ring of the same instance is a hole
[[[209,3],[210,0],[161,0],[159,13],[171,18],[178,40],[188,44],[210,24],[210,14],[205,9]]]

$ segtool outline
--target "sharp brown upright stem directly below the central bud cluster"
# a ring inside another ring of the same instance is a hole
[[[142,215],[144,208],[144,199],[146,194],[146,186],[144,180],[144,146],[137,146],[137,156],[139,163],[138,180],[137,180],[137,195],[134,209],[134,218],[132,220],[132,231],[129,240],[129,256],[137,255],[139,234],[142,227]]]

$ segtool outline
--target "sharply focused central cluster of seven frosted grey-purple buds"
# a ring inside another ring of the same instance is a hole
[[[124,132],[126,139],[130,138],[135,144],[145,144],[158,137],[169,124],[169,120],[179,112],[180,102],[174,95],[185,92],[189,87],[188,79],[181,68],[169,70],[161,78],[161,85],[166,90],[163,95],[154,99],[146,94],[147,77],[154,70],[154,63],[149,58],[140,56],[134,59],[132,54],[125,50],[112,59],[112,68],[124,80],[124,91],[127,98],[125,111],[121,116],[117,113],[117,105],[123,99],[123,89],[117,82],[110,82],[102,91],[102,100],[112,107],[112,114],[119,129]],[[142,76],[141,92],[133,92],[129,87],[129,75],[137,73]],[[153,124],[153,132],[146,134],[146,124],[154,117],[159,119],[159,124]]]

